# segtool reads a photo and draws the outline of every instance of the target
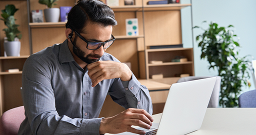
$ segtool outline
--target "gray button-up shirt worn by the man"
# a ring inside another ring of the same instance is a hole
[[[100,60],[118,61],[104,53]],[[67,40],[30,55],[22,72],[25,120],[18,134],[99,134],[99,112],[107,93],[124,108],[152,114],[148,89],[130,81],[105,79],[91,87],[88,70],[73,59]]]

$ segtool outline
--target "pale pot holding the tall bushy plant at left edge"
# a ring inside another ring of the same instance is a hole
[[[3,43],[6,56],[19,56],[20,41],[7,41]]]

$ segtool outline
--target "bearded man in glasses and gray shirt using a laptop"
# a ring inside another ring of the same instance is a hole
[[[144,134],[131,125],[152,125],[148,89],[127,65],[104,52],[115,39],[113,11],[98,0],[79,0],[67,19],[67,39],[24,63],[21,93],[26,118],[18,134]],[[98,118],[107,93],[126,110]]]

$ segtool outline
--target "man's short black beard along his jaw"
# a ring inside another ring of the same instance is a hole
[[[73,52],[76,56],[78,56],[82,61],[84,61],[85,63],[89,64],[89,63],[93,63],[99,60],[99,58],[101,57],[98,54],[87,54],[86,57],[84,57],[84,55],[86,54],[84,51],[82,51],[77,45],[76,45],[76,38],[74,38],[73,40]],[[75,47],[76,49],[75,49]],[[98,57],[97,59],[89,59],[88,57]]]

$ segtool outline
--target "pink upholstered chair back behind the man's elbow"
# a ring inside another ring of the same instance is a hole
[[[16,135],[21,122],[25,119],[24,106],[5,111],[0,117],[0,134]]]

